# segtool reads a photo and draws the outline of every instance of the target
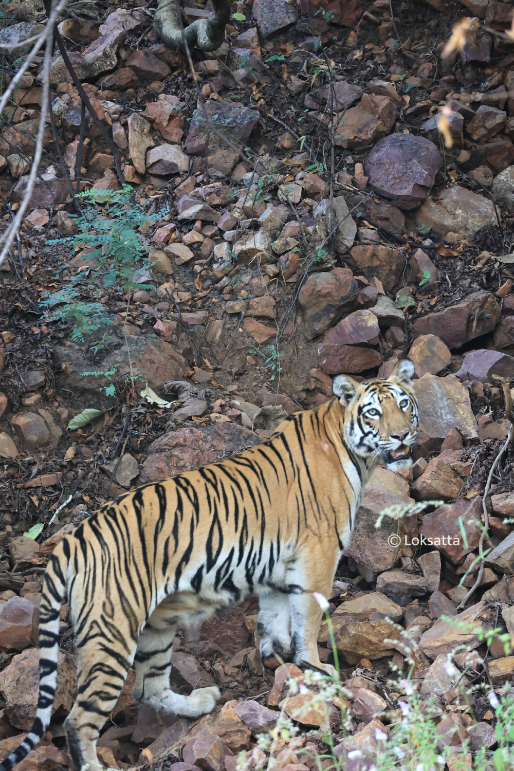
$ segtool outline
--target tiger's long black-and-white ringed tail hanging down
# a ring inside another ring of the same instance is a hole
[[[43,592],[39,605],[39,700],[35,721],[29,735],[0,764],[0,771],[11,771],[39,742],[52,717],[52,706],[57,682],[57,654],[59,652],[59,616],[66,596],[66,579],[61,564],[68,561],[62,550],[61,558],[52,554],[43,577]]]

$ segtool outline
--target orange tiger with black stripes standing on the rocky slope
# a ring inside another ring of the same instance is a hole
[[[197,718],[214,709],[215,686],[170,688],[173,638],[251,594],[263,662],[275,656],[338,678],[318,655],[319,595],[331,591],[378,461],[393,471],[412,463],[413,374],[402,359],[388,379],[337,375],[337,398],[288,416],[264,443],[129,491],[62,537],[43,577],[35,720],[0,771],[49,726],[65,597],[78,684],[65,729],[76,771],[101,771],[96,740],[132,667],[134,699],[156,712]]]

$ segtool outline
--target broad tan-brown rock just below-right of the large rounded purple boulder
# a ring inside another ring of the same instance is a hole
[[[471,239],[481,227],[498,224],[492,201],[459,185],[441,190],[437,202],[426,200],[416,212],[416,223],[438,237],[455,234],[455,240]]]

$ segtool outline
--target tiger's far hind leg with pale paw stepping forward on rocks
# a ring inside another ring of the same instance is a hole
[[[134,699],[163,715],[183,715],[196,718],[212,712],[220,691],[216,687],[200,688],[190,696],[170,689],[171,654],[176,625],[155,629],[146,625],[137,643],[136,683]]]

